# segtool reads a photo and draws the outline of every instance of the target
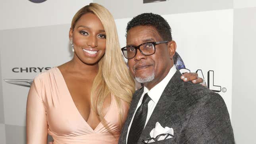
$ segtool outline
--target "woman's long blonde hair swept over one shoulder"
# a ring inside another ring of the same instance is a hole
[[[132,95],[135,92],[135,83],[123,60],[115,21],[111,13],[99,4],[90,3],[75,14],[71,23],[72,29],[74,29],[76,22],[85,13],[94,13],[100,19],[106,33],[106,52],[98,62],[98,74],[92,84],[90,95],[92,108],[94,108],[104,126],[108,127],[102,115],[102,106],[106,96],[112,94],[119,109],[121,128],[124,120],[121,100],[130,104]],[[96,100],[93,100],[95,97]]]

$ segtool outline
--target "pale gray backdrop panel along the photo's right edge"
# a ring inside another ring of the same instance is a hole
[[[256,8],[234,10],[232,126],[237,144],[255,141]]]

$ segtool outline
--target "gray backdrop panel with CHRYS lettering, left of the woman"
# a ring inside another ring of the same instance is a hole
[[[33,79],[37,72],[14,73],[13,67],[54,67],[71,59],[70,24],[0,31],[2,79]],[[5,124],[25,126],[29,88],[1,81]]]

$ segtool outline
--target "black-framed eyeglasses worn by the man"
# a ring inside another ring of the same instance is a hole
[[[123,56],[127,59],[134,58],[137,54],[137,49],[141,52],[141,54],[145,56],[150,56],[156,52],[156,45],[163,44],[169,41],[160,41],[160,42],[145,42],[140,44],[139,46],[125,46],[121,48],[123,52]]]

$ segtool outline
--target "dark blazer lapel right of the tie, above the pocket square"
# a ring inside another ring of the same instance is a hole
[[[158,103],[156,104],[156,107],[154,108],[154,111],[150,116],[150,119],[148,120],[148,123],[146,124],[146,127],[144,128],[138,142],[142,142],[142,140],[145,138],[150,138],[149,133],[153,128],[155,128],[156,122],[159,122],[160,124],[163,123],[163,119],[161,119],[161,117],[164,117],[167,109],[171,106],[171,103],[177,97],[177,94],[175,94],[176,89],[182,83],[180,77],[181,73],[177,70],[167,84],[166,88],[164,89],[164,92],[162,93]]]

